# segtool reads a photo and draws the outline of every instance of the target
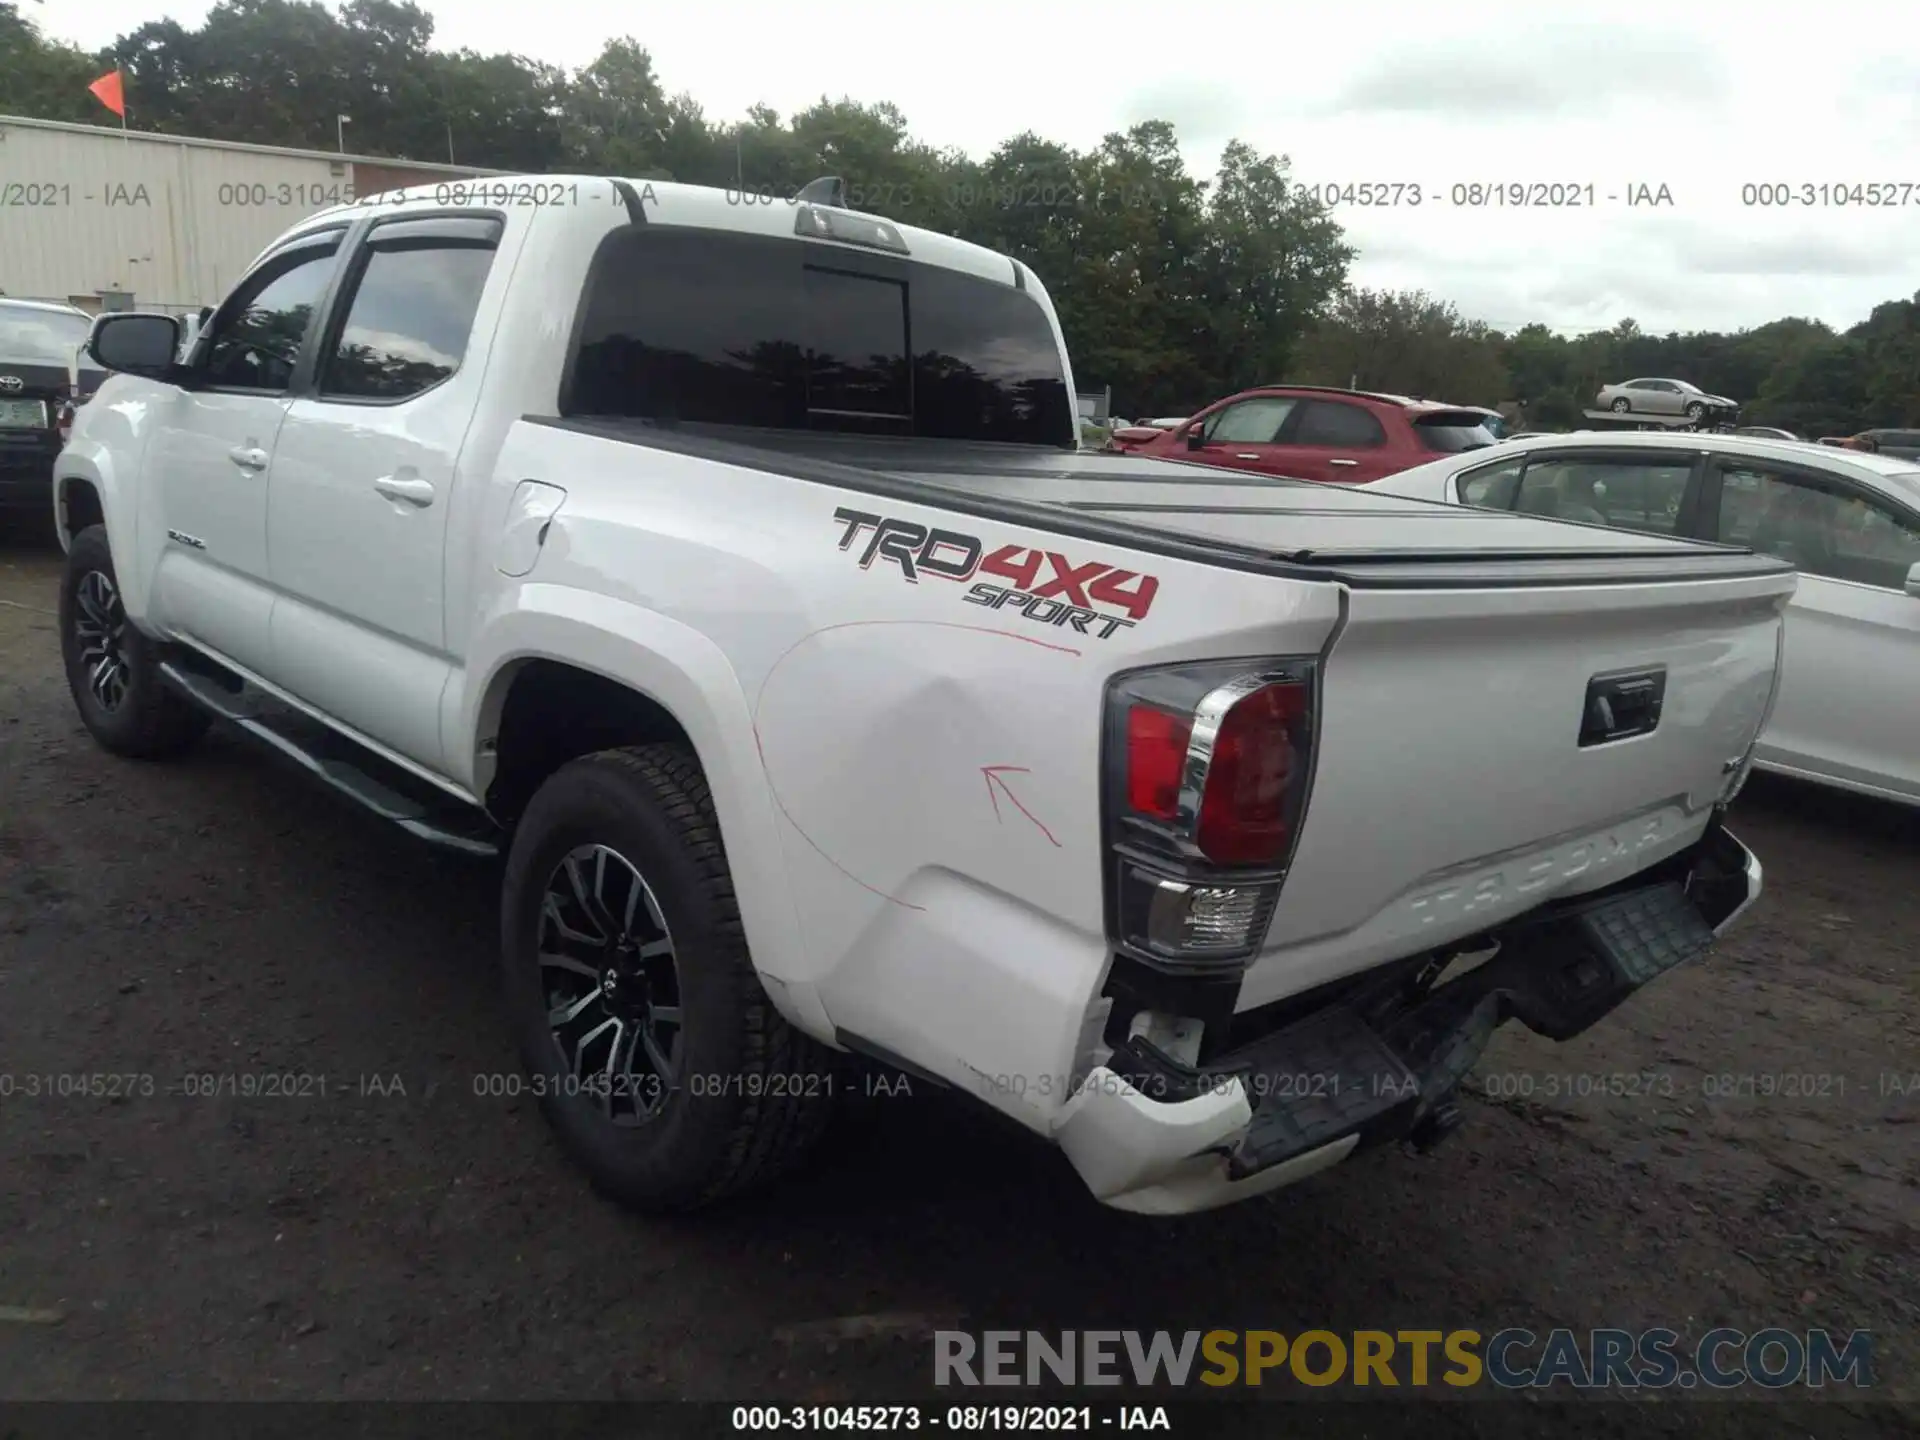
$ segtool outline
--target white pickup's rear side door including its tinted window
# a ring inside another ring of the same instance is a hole
[[[275,449],[275,676],[430,770],[453,668],[447,513],[484,374],[463,361],[501,230],[478,215],[376,223]]]

